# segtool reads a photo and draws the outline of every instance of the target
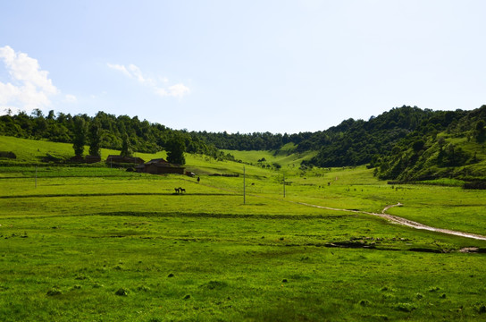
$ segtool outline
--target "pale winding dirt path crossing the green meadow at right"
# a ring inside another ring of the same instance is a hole
[[[290,202],[293,202],[293,201],[290,201]],[[296,202],[296,203],[299,204],[299,205],[315,207],[315,208],[322,208],[322,209],[336,210],[336,211],[346,211],[346,212],[352,212],[352,213],[357,213],[357,214],[366,214],[366,215],[372,215],[372,216],[380,216],[381,218],[385,218],[385,219],[389,220],[390,222],[392,222],[394,224],[398,224],[398,225],[405,225],[407,227],[412,227],[412,228],[415,228],[415,229],[423,229],[423,230],[428,230],[428,231],[431,231],[431,232],[438,232],[438,233],[448,233],[448,234],[452,234],[452,235],[456,235],[456,236],[486,241],[486,236],[482,236],[480,234],[464,233],[464,232],[457,232],[457,231],[453,231],[453,230],[449,230],[449,229],[431,227],[431,226],[428,226],[428,225],[423,225],[423,224],[417,223],[417,222],[412,221],[412,220],[408,220],[406,218],[386,214],[386,211],[390,208],[403,206],[399,202],[396,205],[390,205],[390,206],[383,208],[383,210],[381,210],[381,214],[367,212],[367,211],[360,211],[360,210],[329,208],[329,207],[307,204],[307,203],[304,203],[304,202]]]

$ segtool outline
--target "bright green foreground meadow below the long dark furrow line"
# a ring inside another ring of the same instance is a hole
[[[3,222],[3,321],[483,318],[482,254],[323,247],[341,234],[417,238],[367,218]]]

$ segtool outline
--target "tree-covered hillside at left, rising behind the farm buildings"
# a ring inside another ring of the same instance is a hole
[[[45,116],[38,109],[31,115],[21,112],[0,116],[0,135],[71,143],[80,132],[86,136],[86,144],[96,137],[100,148],[122,149],[123,138],[128,137],[133,151],[155,153],[166,149],[173,140],[181,140],[189,153],[229,157],[222,155],[214,145],[206,144],[196,132],[175,131],[159,123],[140,121],[137,116],[130,118],[104,112],[98,112],[95,117],[87,114],[55,115],[54,111]]]

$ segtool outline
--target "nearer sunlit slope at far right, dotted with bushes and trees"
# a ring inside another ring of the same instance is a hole
[[[437,114],[376,160],[376,174],[401,182],[437,178],[484,181],[485,125],[486,106]],[[484,182],[474,184],[486,188]]]

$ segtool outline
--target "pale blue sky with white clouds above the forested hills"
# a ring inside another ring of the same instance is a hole
[[[323,131],[486,104],[482,0],[0,0],[0,114]]]

